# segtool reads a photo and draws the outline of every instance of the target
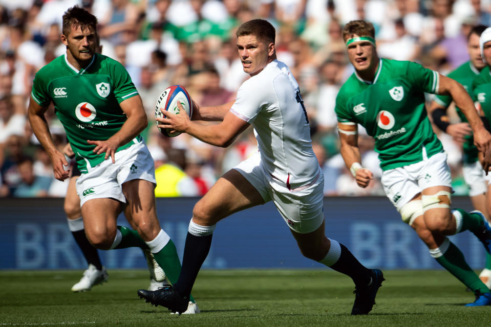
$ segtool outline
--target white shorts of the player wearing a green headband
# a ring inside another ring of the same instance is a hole
[[[440,152],[416,164],[382,172],[383,191],[397,211],[424,189],[432,186],[452,187],[450,167],[446,157],[445,152]]]

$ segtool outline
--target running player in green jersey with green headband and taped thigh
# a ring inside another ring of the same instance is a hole
[[[466,306],[491,305],[491,293],[446,236],[470,230],[491,250],[491,226],[479,212],[450,211],[451,177],[446,153],[433,132],[424,107],[424,92],[450,94],[474,131],[482,152],[489,149],[474,103],[458,82],[409,61],[380,59],[373,25],[350,21],[343,29],[355,73],[341,87],[335,111],[341,155],[361,188],[373,174],[361,166],[357,126],[375,138],[386,195],[402,220],[417,232],[430,254],[476,295]],[[489,167],[489,159],[484,166]]]

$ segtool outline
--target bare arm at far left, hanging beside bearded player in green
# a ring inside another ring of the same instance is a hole
[[[66,171],[65,168],[63,168],[68,166],[68,161],[65,158],[65,155],[63,155],[63,153],[56,148],[53,142],[48,122],[45,118],[46,110],[48,110],[48,107],[41,107],[31,97],[29,100],[27,114],[32,131],[39,140],[39,143],[45,149],[46,153],[48,153],[50,156],[55,178],[63,181],[70,177],[70,171]]]

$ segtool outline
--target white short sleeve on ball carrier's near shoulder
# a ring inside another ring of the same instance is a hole
[[[258,96],[261,94],[264,94],[264,90],[261,90],[260,84],[254,85],[250,79],[245,81],[237,91],[237,98],[230,112],[251,123],[263,108],[264,101]]]

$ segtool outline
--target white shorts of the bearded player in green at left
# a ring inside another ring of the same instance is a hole
[[[132,179],[143,179],[157,184],[154,159],[143,142],[116,152],[114,159],[114,164],[109,157],[77,179],[80,207],[83,203],[98,198],[113,198],[126,202],[121,185]]]

